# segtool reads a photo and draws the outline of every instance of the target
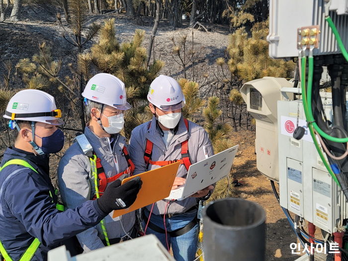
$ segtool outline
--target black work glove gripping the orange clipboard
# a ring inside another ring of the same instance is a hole
[[[105,213],[110,213],[112,210],[130,207],[137,198],[142,183],[140,177],[135,177],[122,186],[121,180],[115,180],[106,187],[104,194],[97,199],[99,208]]]

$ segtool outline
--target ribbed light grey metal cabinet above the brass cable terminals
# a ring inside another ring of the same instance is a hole
[[[319,25],[321,31],[319,48],[314,50],[314,55],[340,53],[336,39],[325,21],[326,8],[337,25],[347,49],[347,0],[270,0],[267,36],[269,56],[271,58],[297,57],[297,28],[311,25]]]

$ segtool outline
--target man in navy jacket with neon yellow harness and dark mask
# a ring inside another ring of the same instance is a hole
[[[0,167],[0,253],[6,261],[47,260],[50,249],[95,226],[112,209],[135,201],[141,180],[114,183],[99,199],[64,211],[49,176],[49,154],[64,145],[64,134],[57,128],[63,123],[61,111],[54,98],[41,90],[19,91],[3,117],[18,131]]]

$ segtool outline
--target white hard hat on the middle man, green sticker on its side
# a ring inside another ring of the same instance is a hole
[[[90,78],[82,96],[119,110],[127,110],[132,107],[126,101],[124,83],[110,74],[97,74]]]

